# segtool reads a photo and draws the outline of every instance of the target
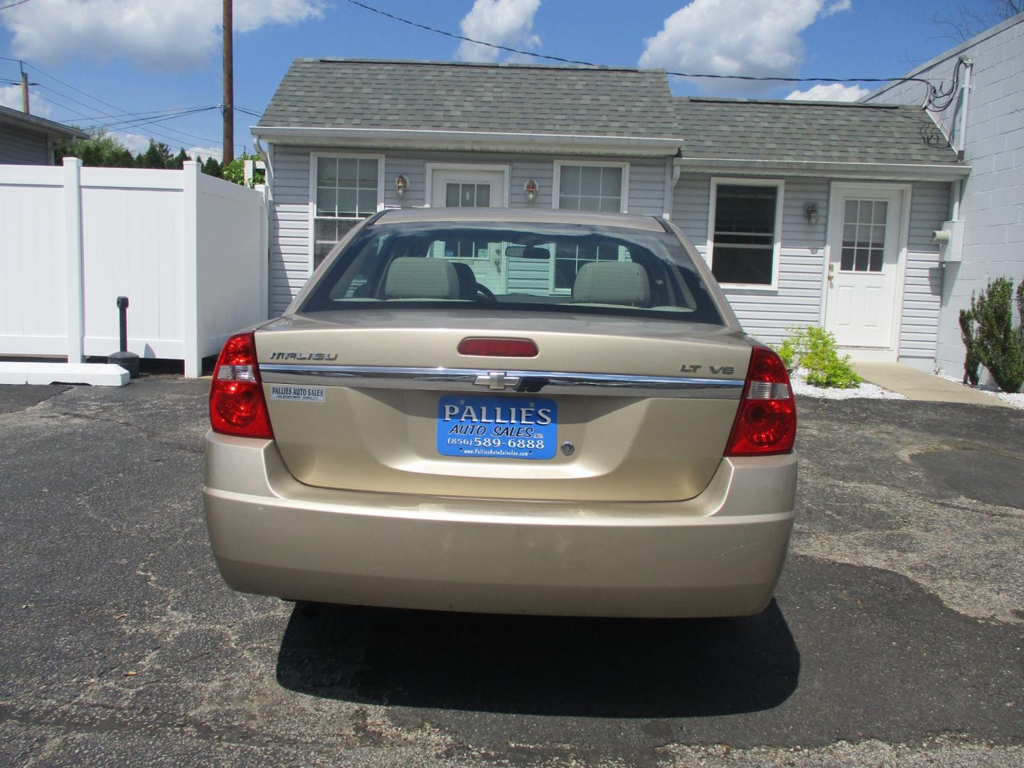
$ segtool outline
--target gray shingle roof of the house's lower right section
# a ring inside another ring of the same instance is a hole
[[[673,99],[685,158],[952,164],[918,106],[834,101]]]

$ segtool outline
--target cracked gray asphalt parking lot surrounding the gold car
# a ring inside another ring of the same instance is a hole
[[[0,764],[1024,765],[1024,412],[801,399],[762,615],[569,620],[230,592],[207,386],[0,386]]]

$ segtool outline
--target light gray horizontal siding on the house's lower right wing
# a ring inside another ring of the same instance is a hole
[[[942,286],[938,249],[931,244],[931,233],[945,218],[948,188],[944,182],[916,182],[910,198],[899,358],[929,370],[934,359]],[[778,289],[724,289],[743,328],[762,341],[777,344],[786,335],[786,329],[817,326],[821,322],[828,198],[827,179],[785,179]],[[680,176],[673,190],[672,218],[705,258],[710,202],[710,176]],[[809,224],[804,216],[808,203],[817,203],[817,224]]]

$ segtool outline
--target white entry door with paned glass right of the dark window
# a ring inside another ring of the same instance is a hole
[[[903,195],[869,186],[833,191],[825,329],[841,347],[894,348]]]

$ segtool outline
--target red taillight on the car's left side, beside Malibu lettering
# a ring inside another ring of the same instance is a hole
[[[251,332],[236,334],[220,350],[210,385],[210,426],[221,434],[273,438]]]

